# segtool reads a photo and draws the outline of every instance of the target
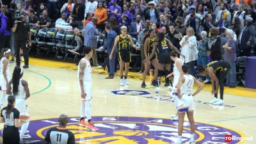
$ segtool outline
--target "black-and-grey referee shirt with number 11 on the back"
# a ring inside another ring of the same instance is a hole
[[[44,140],[51,144],[75,144],[74,134],[59,127],[49,129]]]

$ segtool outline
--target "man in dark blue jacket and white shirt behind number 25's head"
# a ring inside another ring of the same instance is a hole
[[[144,28],[145,28],[145,24],[141,21],[140,15],[137,15],[136,22],[133,22],[131,24],[129,33],[132,37],[138,39],[138,35],[139,35],[140,31]]]

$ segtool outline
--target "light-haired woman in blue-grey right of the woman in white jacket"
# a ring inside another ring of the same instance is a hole
[[[198,58],[197,58],[197,65],[202,65],[204,68],[208,64],[208,55],[206,51],[206,45],[207,45],[207,32],[202,31],[201,33],[202,40],[199,40],[197,42],[197,50],[198,50]],[[202,76],[199,76],[198,81],[203,81]],[[210,77],[207,75],[205,76],[204,83],[208,83],[210,81]]]

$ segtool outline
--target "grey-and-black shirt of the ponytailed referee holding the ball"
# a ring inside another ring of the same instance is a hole
[[[7,108],[4,107],[1,111],[1,117],[4,118],[5,125],[15,126],[15,119],[20,118],[20,112],[18,111],[18,109],[13,108],[11,113],[7,115]]]

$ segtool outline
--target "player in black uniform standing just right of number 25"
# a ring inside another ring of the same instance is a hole
[[[155,40],[156,40],[156,31],[154,29],[149,29],[148,33],[143,38],[145,58],[148,58],[148,56],[150,56],[150,54],[152,53]],[[141,88],[148,88],[148,86],[145,84],[145,79],[146,79],[146,76],[147,76],[149,68],[150,68],[150,62],[152,63],[152,65],[155,68],[154,78],[153,78],[151,85],[156,86],[158,68],[157,68],[156,54],[154,54],[154,56],[150,59],[150,61],[147,61],[145,63],[145,70],[143,72]]]

